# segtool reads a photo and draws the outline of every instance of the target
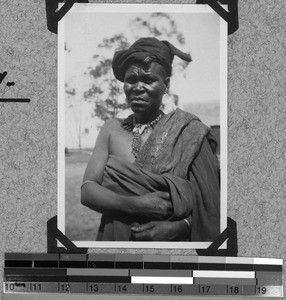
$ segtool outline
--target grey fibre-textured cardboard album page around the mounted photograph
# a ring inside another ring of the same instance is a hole
[[[0,72],[8,72],[0,97],[31,99],[0,103],[2,282],[3,254],[46,252],[46,222],[56,215],[57,36],[44,1],[0,7]],[[228,216],[239,256],[286,259],[285,14],[284,0],[241,0],[240,28],[228,38]]]

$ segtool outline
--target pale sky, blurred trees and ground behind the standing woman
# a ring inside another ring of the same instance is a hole
[[[83,173],[98,131],[109,118],[127,117],[122,83],[112,73],[115,50],[140,37],[168,40],[191,54],[175,57],[162,110],[194,113],[208,126],[220,125],[220,24],[216,13],[96,13],[70,11],[64,18],[65,234],[94,241],[100,214],[80,203]],[[61,101],[61,99],[60,99]]]

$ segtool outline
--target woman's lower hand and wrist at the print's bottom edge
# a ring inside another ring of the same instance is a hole
[[[190,233],[189,225],[184,221],[152,221],[143,225],[133,224],[132,241],[181,241]]]

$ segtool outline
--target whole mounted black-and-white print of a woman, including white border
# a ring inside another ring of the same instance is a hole
[[[207,248],[227,223],[227,23],[75,4],[58,24],[58,228],[78,247]]]

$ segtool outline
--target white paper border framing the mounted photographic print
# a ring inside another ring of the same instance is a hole
[[[216,14],[208,5],[194,4],[75,4],[72,12],[202,13]],[[218,18],[220,18],[218,16]],[[65,233],[65,17],[58,24],[58,229]],[[220,18],[220,169],[221,232],[227,224],[227,23]],[[80,187],[79,187],[80,188]],[[79,200],[80,201],[80,200]],[[211,242],[99,242],[73,241],[88,248],[206,249]],[[225,248],[225,244],[223,247]]]

